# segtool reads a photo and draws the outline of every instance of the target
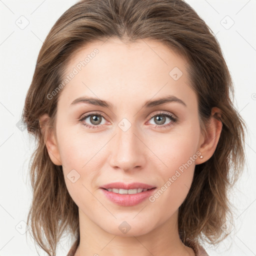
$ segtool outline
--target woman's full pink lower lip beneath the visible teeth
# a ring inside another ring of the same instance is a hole
[[[107,191],[104,188],[100,188],[100,189],[110,201],[121,206],[136,205],[142,202],[143,200],[145,200],[147,197],[149,197],[152,194],[152,192],[155,190],[155,188],[152,188],[150,190],[146,190],[136,194],[118,194],[118,193]]]

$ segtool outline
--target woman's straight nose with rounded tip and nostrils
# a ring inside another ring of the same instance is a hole
[[[123,131],[116,127],[116,135],[111,140],[109,164],[115,169],[131,171],[142,168],[145,164],[147,148],[143,136],[135,125]]]

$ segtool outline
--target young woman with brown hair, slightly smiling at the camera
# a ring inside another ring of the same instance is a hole
[[[216,38],[182,0],[82,0],[39,52],[31,235],[49,255],[207,255],[228,235],[245,123]]]

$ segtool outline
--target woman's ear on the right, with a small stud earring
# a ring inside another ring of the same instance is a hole
[[[195,164],[200,164],[207,161],[214,153],[217,143],[220,137],[222,122],[220,120],[221,110],[217,107],[211,108],[211,116],[209,125],[206,127],[206,134],[200,134],[198,143],[198,151],[203,156],[202,159],[199,157],[196,159]]]

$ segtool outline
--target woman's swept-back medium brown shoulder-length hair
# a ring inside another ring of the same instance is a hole
[[[37,147],[31,157],[33,198],[27,216],[32,236],[49,255],[68,231],[79,238],[78,207],[65,186],[62,166],[49,158],[39,126],[47,113],[55,127],[57,100],[47,95],[63,80],[74,52],[95,40],[116,37],[123,42],[153,39],[188,61],[191,87],[198,99],[201,131],[205,134],[211,108],[221,110],[222,130],[213,155],[195,165],[190,190],[179,207],[181,240],[218,243],[226,237],[222,225],[232,222],[227,191],[244,165],[244,121],[232,99],[233,85],[220,46],[205,22],[182,0],[82,0],[55,22],[40,49],[22,118]],[[204,235],[204,238],[202,237]]]

